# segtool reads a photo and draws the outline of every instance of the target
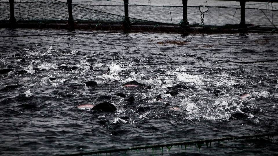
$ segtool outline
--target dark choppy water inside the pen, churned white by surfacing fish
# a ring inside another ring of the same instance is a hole
[[[278,68],[270,61],[278,59],[277,34],[67,33],[1,29],[1,69],[12,69],[1,70],[1,154],[62,155],[277,132]],[[36,34],[53,35],[7,37]],[[86,86],[89,80],[97,85]],[[149,87],[123,86],[132,80]],[[116,112],[76,108],[106,101]],[[277,152],[269,138],[194,146],[163,154]],[[152,155],[148,150],[127,154]]]

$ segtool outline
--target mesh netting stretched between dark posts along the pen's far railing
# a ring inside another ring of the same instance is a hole
[[[8,20],[9,3],[0,2],[0,20]],[[15,18],[19,21],[67,20],[67,3],[57,1],[14,2]],[[122,22],[123,5],[84,5],[73,4],[75,21]],[[150,21],[153,23],[179,24],[182,20],[181,6],[129,5],[131,22]],[[201,25],[201,13],[204,12],[204,25],[224,26],[240,23],[240,8],[188,6],[190,25]],[[246,8],[246,24],[259,27],[277,27],[278,11]]]

